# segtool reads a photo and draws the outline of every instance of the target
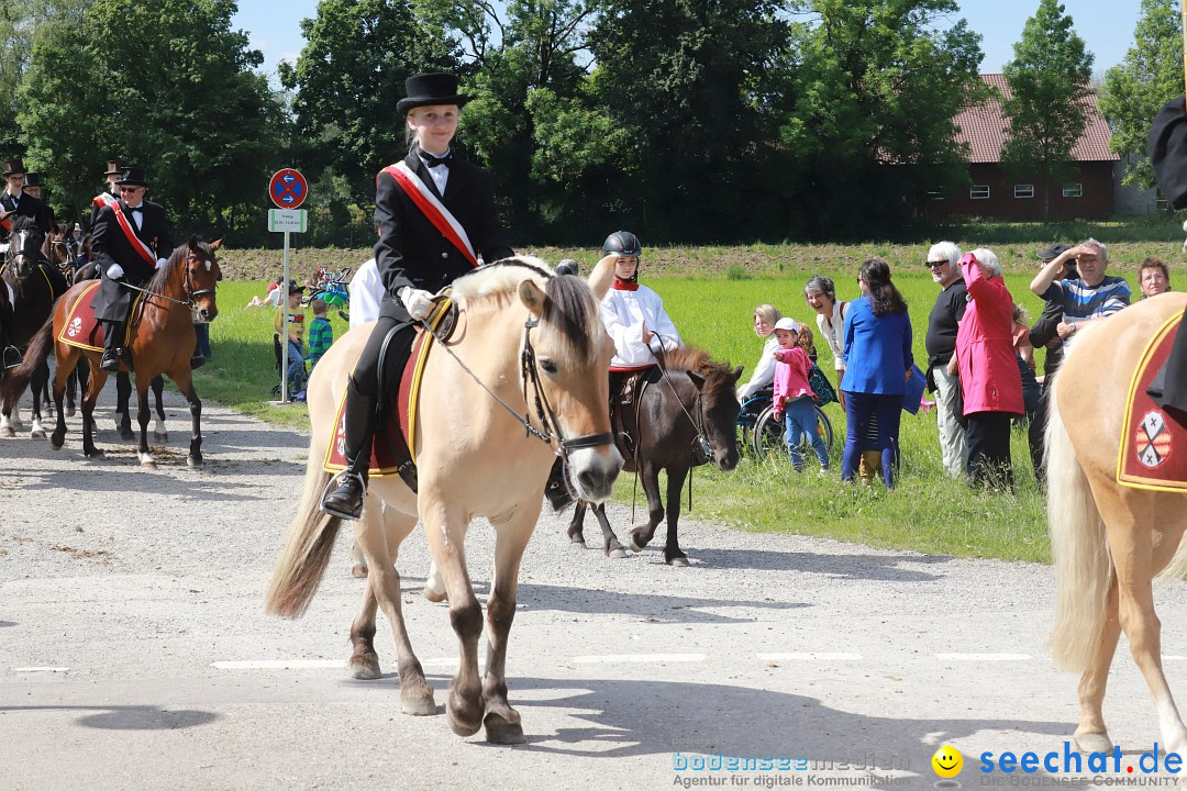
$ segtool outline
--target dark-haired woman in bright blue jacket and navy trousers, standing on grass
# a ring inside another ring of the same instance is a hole
[[[845,318],[845,454],[842,480],[852,480],[862,455],[862,442],[871,417],[877,417],[882,477],[894,485],[899,457],[899,419],[902,396],[915,363],[910,353],[910,315],[902,294],[890,282],[890,267],[870,259],[857,275],[862,296],[849,306]]]

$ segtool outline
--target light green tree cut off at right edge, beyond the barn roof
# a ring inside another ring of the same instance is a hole
[[[1182,18],[1174,0],[1142,0],[1134,46],[1105,72],[1100,111],[1109,120],[1109,147],[1125,161],[1124,184],[1154,187],[1147,154],[1150,121],[1183,91]]]

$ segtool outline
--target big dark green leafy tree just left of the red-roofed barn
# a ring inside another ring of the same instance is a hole
[[[982,101],[980,37],[956,0],[799,0],[781,136],[793,225],[811,236],[899,223],[967,180],[953,119]]]

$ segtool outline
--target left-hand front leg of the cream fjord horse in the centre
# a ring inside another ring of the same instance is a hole
[[[470,736],[482,727],[482,681],[478,677],[478,637],[482,634],[482,606],[474,595],[465,566],[466,522],[463,515],[447,510],[447,498],[436,484],[421,480],[419,499],[425,522],[425,536],[433,562],[444,576],[449,597],[449,618],[457,633],[461,661],[450,684],[445,707],[450,728],[459,736]],[[496,550],[497,551],[497,550]],[[372,568],[372,574],[375,569]]]

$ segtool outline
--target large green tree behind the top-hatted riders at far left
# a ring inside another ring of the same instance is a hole
[[[81,189],[122,155],[146,166],[183,231],[262,225],[283,116],[252,71],[262,56],[230,27],[235,9],[234,0],[96,0],[81,32],[38,40],[18,119],[30,159]]]

